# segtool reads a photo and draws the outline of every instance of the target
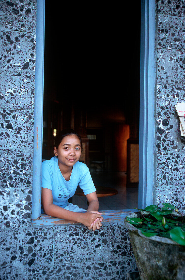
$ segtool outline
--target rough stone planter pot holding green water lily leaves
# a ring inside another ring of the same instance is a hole
[[[179,214],[175,213],[177,215]],[[141,214],[135,212],[127,217],[141,218]],[[146,237],[141,230],[128,223],[126,218],[125,225],[141,280],[185,279],[185,246],[165,237]]]

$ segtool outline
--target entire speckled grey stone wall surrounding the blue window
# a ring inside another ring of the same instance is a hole
[[[136,270],[123,222],[34,227],[32,164],[36,0],[0,2],[0,279],[126,279]],[[154,202],[185,210],[185,1],[156,1]]]

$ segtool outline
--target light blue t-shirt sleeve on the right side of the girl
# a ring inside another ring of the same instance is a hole
[[[84,172],[82,178],[79,182],[79,187],[83,190],[84,194],[89,194],[92,192],[96,192],[96,188],[93,183],[93,179],[91,178],[91,174],[89,172],[89,168],[86,166],[84,168]]]

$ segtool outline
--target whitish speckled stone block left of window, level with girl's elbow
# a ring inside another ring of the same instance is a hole
[[[0,196],[0,224],[2,229],[31,225],[31,190],[28,188],[1,188]]]

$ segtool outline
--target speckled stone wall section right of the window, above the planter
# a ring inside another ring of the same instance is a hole
[[[174,106],[185,103],[185,1],[157,1],[156,22],[154,202],[169,202],[184,212],[185,137]]]

